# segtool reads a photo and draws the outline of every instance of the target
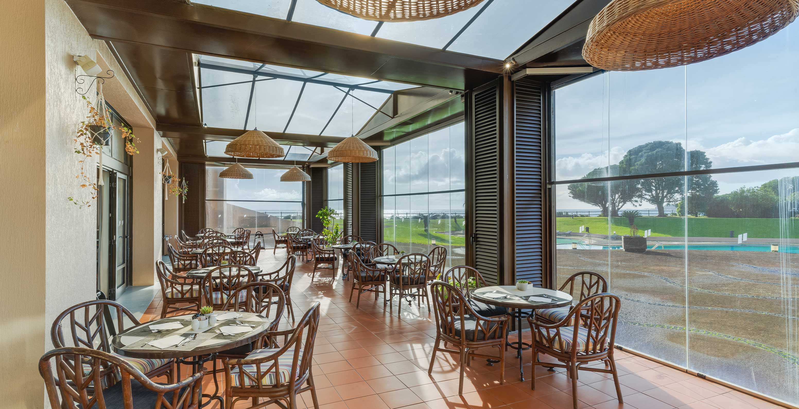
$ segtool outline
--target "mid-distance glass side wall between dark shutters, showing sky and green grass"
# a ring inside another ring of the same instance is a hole
[[[464,125],[383,149],[383,240],[404,252],[447,247],[447,267],[466,264]]]

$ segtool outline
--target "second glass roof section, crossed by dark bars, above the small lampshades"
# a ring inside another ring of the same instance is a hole
[[[348,137],[391,119],[388,97],[416,87],[228,58],[200,56],[199,65],[203,121],[215,128]]]

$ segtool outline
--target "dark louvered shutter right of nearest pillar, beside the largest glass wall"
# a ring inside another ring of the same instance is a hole
[[[543,285],[542,87],[514,82],[516,278]]]

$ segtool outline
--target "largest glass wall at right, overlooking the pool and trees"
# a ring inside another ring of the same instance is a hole
[[[555,273],[622,299],[616,342],[799,403],[793,24],[708,62],[555,89]]]

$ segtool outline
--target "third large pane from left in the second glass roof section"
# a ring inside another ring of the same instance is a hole
[[[344,93],[330,85],[308,83],[305,85],[300,103],[292,121],[288,124],[288,133],[307,133],[318,135],[322,132],[324,124],[339,106]],[[325,133],[327,134],[327,133]]]

